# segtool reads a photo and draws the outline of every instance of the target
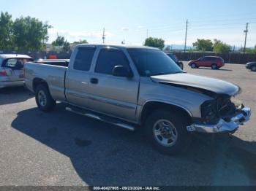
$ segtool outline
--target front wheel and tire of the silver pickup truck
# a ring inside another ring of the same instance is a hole
[[[192,140],[192,134],[187,131],[189,122],[185,119],[187,116],[184,114],[168,110],[149,114],[144,128],[154,149],[165,155],[184,152]]]

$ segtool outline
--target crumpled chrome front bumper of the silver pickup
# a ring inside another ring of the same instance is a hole
[[[244,122],[248,121],[251,116],[251,109],[244,107],[241,112],[231,117],[230,120],[226,121],[220,119],[216,124],[209,125],[204,123],[194,123],[187,126],[189,132],[200,132],[200,133],[232,133],[238,129],[239,125],[244,125]]]

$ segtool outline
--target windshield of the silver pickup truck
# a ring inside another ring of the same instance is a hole
[[[183,72],[177,64],[161,50],[127,49],[140,76],[151,77]]]

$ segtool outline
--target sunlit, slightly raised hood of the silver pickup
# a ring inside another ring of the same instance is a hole
[[[230,82],[210,77],[201,77],[195,74],[178,73],[151,77],[154,82],[162,82],[170,85],[185,85],[197,87],[217,94],[236,95],[240,87]]]

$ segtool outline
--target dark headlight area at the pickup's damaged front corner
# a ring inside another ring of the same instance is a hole
[[[201,105],[201,114],[203,120],[210,121],[217,117],[217,101],[209,100],[205,101]]]

